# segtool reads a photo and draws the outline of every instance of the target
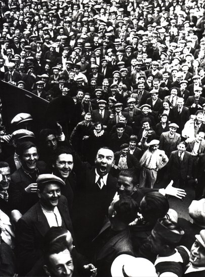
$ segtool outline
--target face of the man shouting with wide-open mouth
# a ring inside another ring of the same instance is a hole
[[[95,166],[100,176],[105,176],[114,166],[114,153],[110,149],[101,148],[95,158]]]

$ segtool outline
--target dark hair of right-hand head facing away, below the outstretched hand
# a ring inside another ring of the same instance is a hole
[[[140,203],[141,214],[145,221],[155,224],[159,218],[163,218],[169,211],[169,201],[160,192],[148,192]]]

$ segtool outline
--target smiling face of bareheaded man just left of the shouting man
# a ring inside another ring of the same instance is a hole
[[[57,176],[63,180],[67,179],[73,170],[73,156],[71,154],[61,154],[53,165]]]

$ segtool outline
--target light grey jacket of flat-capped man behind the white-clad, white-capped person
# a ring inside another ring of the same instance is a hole
[[[170,138],[169,131],[163,132],[160,136],[159,149],[164,150],[166,155],[169,158],[171,152],[177,149],[177,145],[180,142],[181,142],[181,135],[179,133],[175,133],[174,138]]]

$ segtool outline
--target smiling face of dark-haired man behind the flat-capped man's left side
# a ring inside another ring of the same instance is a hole
[[[36,168],[36,162],[38,161],[38,152],[35,147],[31,147],[24,151],[21,161],[23,167],[30,172],[33,172]]]

